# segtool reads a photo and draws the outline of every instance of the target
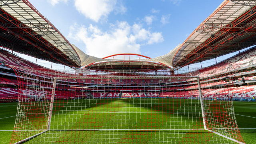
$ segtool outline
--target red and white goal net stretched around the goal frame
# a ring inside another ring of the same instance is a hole
[[[10,143],[243,144],[232,89],[204,88],[196,73],[13,69],[20,95]]]

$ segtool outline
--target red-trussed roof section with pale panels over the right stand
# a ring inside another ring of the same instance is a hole
[[[183,42],[172,65],[182,67],[255,45],[255,5],[255,0],[224,0]]]

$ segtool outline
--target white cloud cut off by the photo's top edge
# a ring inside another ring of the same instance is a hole
[[[75,7],[78,12],[95,22],[108,18],[113,10],[121,14],[126,11],[122,3],[116,0],[75,0]]]

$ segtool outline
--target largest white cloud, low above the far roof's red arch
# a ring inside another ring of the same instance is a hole
[[[130,26],[127,22],[116,22],[110,25],[110,30],[103,32],[97,26],[89,27],[74,24],[70,27],[69,38],[83,42],[86,54],[104,57],[118,53],[140,54],[140,46],[162,42],[160,32],[151,32],[141,24]]]

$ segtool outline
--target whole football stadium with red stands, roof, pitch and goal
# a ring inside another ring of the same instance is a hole
[[[255,144],[255,9],[224,0],[168,54],[98,58],[28,0],[0,0],[0,143]]]

